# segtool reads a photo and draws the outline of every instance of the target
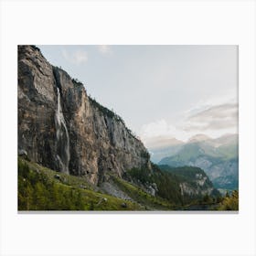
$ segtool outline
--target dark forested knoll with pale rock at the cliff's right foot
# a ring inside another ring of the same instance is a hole
[[[127,171],[124,178],[144,187],[155,184],[156,196],[165,198],[176,206],[186,205],[192,201],[206,202],[208,200],[206,195],[210,197],[211,202],[214,202],[220,196],[219,191],[213,187],[208,176],[200,168],[192,166],[171,168],[167,165],[154,164],[152,168],[152,173],[147,168],[133,168]],[[186,184],[187,191],[181,191],[182,184]]]

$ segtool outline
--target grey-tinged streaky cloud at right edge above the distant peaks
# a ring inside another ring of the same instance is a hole
[[[186,120],[184,130],[187,132],[206,130],[222,130],[238,126],[239,106],[237,103],[226,103],[209,107],[207,110],[197,112]]]

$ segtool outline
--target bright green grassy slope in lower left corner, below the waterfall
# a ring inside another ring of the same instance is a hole
[[[101,193],[84,177],[55,172],[22,158],[18,159],[18,166],[18,210],[145,209],[135,202]],[[20,172],[22,168],[27,174]]]

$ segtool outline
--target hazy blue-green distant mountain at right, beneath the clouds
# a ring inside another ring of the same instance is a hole
[[[159,165],[197,166],[202,168],[217,188],[239,187],[238,135],[227,134],[217,139],[196,136],[178,149],[175,155],[164,157]]]

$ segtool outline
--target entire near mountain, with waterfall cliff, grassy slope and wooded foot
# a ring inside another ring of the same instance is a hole
[[[19,210],[166,210],[218,197],[202,170],[151,163],[122,117],[35,46],[18,46],[17,96]]]

